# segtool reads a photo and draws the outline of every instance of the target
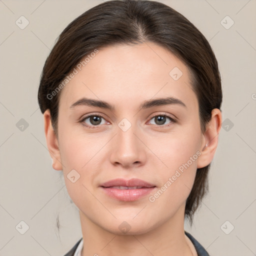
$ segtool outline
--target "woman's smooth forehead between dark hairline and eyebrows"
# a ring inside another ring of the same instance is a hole
[[[61,90],[59,108],[68,108],[81,97],[124,106],[173,96],[188,106],[197,105],[188,68],[169,50],[151,42],[101,48],[78,63],[75,73]]]

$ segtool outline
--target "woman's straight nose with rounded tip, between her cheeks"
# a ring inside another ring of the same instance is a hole
[[[116,135],[110,145],[110,161],[113,165],[132,168],[145,163],[146,146],[138,130],[136,125],[131,125],[126,131],[119,127],[116,128]]]

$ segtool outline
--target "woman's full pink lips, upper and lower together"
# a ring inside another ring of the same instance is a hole
[[[112,186],[142,186],[141,188],[132,188],[132,189],[119,189]],[[121,201],[134,201],[142,196],[150,193],[152,190],[156,188],[155,185],[150,184],[144,180],[131,178],[131,179],[123,179],[116,178],[104,182],[100,185],[101,189],[110,197],[121,200]]]

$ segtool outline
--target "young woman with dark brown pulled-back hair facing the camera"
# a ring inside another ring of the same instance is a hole
[[[38,90],[52,166],[79,209],[66,255],[208,255],[184,218],[207,191],[221,101],[209,43],[171,7],[106,1],[73,20]]]

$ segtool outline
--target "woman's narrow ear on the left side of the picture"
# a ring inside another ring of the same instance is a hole
[[[46,143],[50,153],[50,157],[52,159],[52,168],[55,170],[62,170],[62,164],[60,161],[60,152],[58,148],[58,140],[51,124],[49,109],[46,109],[44,111],[43,118],[44,118],[44,133],[45,133]]]

